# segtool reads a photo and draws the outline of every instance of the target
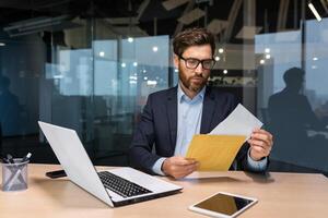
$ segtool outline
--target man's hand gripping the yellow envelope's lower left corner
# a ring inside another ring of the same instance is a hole
[[[180,179],[194,172],[198,165],[195,159],[174,156],[164,160],[162,170],[167,175]]]

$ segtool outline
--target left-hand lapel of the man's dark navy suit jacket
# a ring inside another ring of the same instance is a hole
[[[175,149],[176,134],[177,134],[177,86],[167,93],[167,120],[169,125],[171,147]]]

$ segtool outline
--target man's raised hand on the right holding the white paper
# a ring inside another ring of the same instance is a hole
[[[250,138],[247,142],[250,145],[250,158],[258,161],[270,155],[273,137],[269,132],[256,129],[253,131]]]

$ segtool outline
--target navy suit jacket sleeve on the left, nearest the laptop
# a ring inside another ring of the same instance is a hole
[[[154,173],[152,166],[160,159],[160,156],[152,153],[155,141],[152,108],[152,95],[150,95],[129,149],[130,166],[150,174]]]

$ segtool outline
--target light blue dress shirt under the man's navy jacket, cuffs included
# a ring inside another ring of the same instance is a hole
[[[186,156],[189,144],[195,134],[200,133],[201,114],[206,86],[190,99],[178,85],[177,90],[177,137],[174,150],[175,156]],[[249,149],[250,150],[250,149]],[[254,171],[265,169],[267,167],[267,158],[255,161],[250,158],[248,150],[247,162]],[[160,158],[152,167],[156,174],[165,175],[162,171],[162,165],[166,158]],[[235,165],[235,164],[233,164]]]

